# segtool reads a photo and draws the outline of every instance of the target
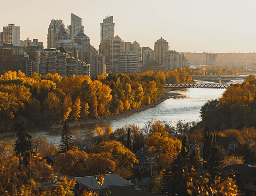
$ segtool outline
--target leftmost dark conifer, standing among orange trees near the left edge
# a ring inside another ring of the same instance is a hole
[[[25,152],[32,151],[31,135],[28,134],[28,129],[24,122],[20,122],[14,127],[16,132],[17,140],[15,142],[16,155],[24,155]]]

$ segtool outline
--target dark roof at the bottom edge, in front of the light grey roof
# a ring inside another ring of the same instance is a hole
[[[107,192],[111,192],[110,196],[161,196],[159,193],[146,192],[140,189],[124,188],[118,186],[110,186],[109,188],[100,189],[100,196],[105,196]]]

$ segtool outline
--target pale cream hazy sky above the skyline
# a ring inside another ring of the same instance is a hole
[[[115,36],[154,49],[161,37],[178,52],[256,52],[255,0],[1,0],[0,31],[20,26],[20,39],[47,46],[51,19],[70,25],[82,18],[92,46],[100,44],[100,22],[114,16]]]

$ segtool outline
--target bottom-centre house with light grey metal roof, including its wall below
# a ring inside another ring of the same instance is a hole
[[[135,184],[133,184],[132,182],[129,182],[128,180],[125,180],[124,178],[121,178],[116,174],[104,175],[104,183],[100,186],[98,186],[95,176],[77,177],[74,179],[76,179],[76,186],[75,186],[76,196],[79,196],[80,194],[82,194],[84,189],[90,189],[94,192],[97,192],[98,188],[99,189],[108,188],[111,185],[127,187],[132,189],[134,189],[135,187]]]

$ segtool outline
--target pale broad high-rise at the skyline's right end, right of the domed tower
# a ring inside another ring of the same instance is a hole
[[[190,68],[190,64],[184,56],[175,50],[170,50],[164,54],[163,59],[164,71],[176,70],[178,68]]]

